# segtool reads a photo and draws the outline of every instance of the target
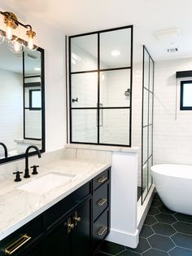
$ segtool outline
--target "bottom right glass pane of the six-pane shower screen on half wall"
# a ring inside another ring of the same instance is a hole
[[[127,109],[103,109],[100,117],[101,143],[129,144],[129,111]]]

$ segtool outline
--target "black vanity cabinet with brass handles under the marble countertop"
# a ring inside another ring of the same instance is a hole
[[[0,241],[0,256],[91,256],[109,220],[110,168]]]

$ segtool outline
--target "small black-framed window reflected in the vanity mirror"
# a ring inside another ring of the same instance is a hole
[[[41,90],[29,90],[29,110],[41,110]]]

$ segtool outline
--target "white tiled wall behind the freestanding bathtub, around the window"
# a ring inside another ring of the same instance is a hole
[[[179,110],[180,83],[176,79],[177,71],[191,69],[192,59],[155,63],[155,164],[192,164],[192,111]]]

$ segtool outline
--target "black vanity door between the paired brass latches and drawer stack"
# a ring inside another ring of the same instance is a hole
[[[87,200],[72,214],[75,223],[72,236],[72,256],[90,256],[90,203]],[[76,215],[77,214],[77,215]],[[81,218],[79,222],[77,218]]]

